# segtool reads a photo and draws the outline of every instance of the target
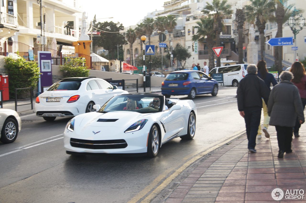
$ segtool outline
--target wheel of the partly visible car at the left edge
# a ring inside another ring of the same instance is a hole
[[[16,140],[17,135],[18,135],[18,125],[16,120],[12,118],[6,119],[1,130],[0,141],[5,144],[12,143]]]

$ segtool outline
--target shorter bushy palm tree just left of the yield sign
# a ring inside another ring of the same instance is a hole
[[[211,17],[204,17],[201,18],[200,21],[197,21],[194,28],[197,29],[196,34],[192,36],[193,41],[200,40],[203,42],[206,36],[206,42],[208,47],[208,67],[211,70],[215,67],[215,60],[214,60],[214,51],[212,48],[214,47],[214,39],[215,29],[214,29],[214,19]]]

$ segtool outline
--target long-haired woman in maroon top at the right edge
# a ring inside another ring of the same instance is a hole
[[[303,110],[305,109],[306,105],[306,75],[305,75],[305,68],[303,64],[300,61],[296,61],[292,64],[290,72],[293,73],[293,79],[291,82],[297,86],[297,89],[299,89],[300,97],[303,104]],[[294,137],[300,137],[299,135],[299,129],[301,127],[301,124],[299,120],[297,119],[297,122],[294,126]]]

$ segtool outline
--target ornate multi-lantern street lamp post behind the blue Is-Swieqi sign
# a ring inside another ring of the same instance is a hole
[[[294,35],[294,46],[297,46],[296,35],[303,29],[305,25],[305,18],[301,14],[299,14],[299,12],[295,9],[295,7],[291,17],[288,20],[288,24]],[[300,29],[296,29],[295,26],[298,26]],[[297,58],[297,50],[294,50],[294,62],[296,61],[296,58]]]

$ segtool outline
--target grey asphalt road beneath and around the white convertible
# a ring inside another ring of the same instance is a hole
[[[244,130],[236,90],[225,87],[215,97],[196,96],[194,139],[175,138],[155,158],[72,157],[62,139],[69,118],[46,122],[22,116],[17,140],[0,144],[0,202],[149,202],[201,153]]]

